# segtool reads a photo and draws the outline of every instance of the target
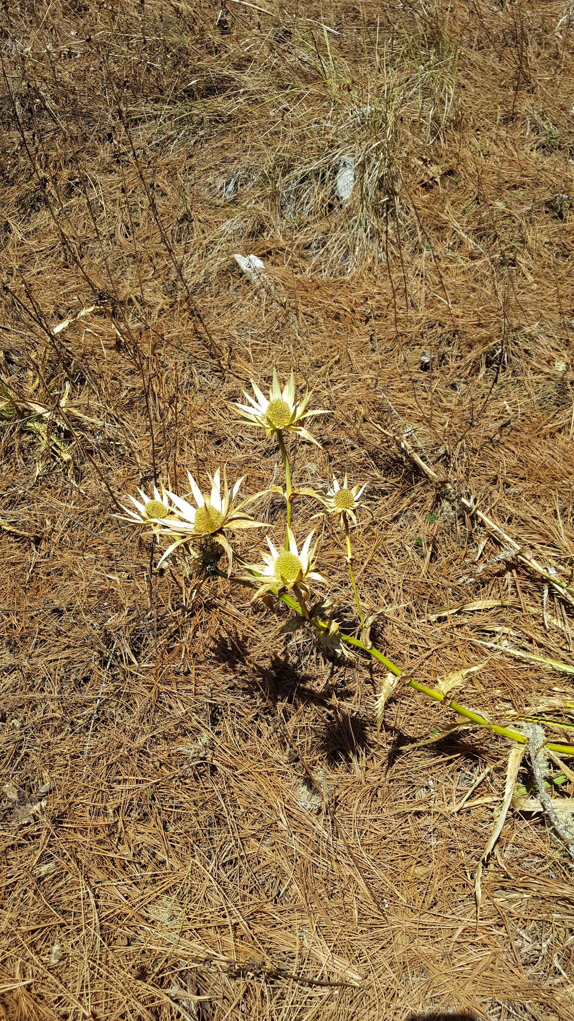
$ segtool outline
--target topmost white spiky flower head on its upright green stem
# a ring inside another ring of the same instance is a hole
[[[321,446],[300,423],[312,415],[329,415],[330,412],[319,408],[313,411],[306,410],[312,394],[307,390],[301,400],[296,399],[295,377],[292,372],[289,382],[282,390],[279,385],[277,369],[273,370],[273,384],[269,392],[269,399],[261,393],[253,380],[250,380],[250,383],[256,399],[243,391],[243,396],[249,403],[233,403],[231,405],[241,412],[242,422],[249,426],[261,426],[268,436],[285,429],[288,432],[296,433],[297,436],[302,436],[305,440],[315,443],[316,446]]]

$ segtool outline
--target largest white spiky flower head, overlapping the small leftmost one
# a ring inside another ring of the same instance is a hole
[[[208,476],[211,489],[208,494],[202,493],[193,476],[188,472],[187,477],[191,487],[191,492],[195,500],[195,505],[189,500],[183,499],[177,493],[166,490],[165,495],[175,505],[176,516],[165,517],[161,521],[159,535],[171,535],[175,541],[165,550],[159,565],[178,547],[191,539],[204,539],[211,537],[223,546],[229,561],[229,570],[233,563],[233,549],[226,536],[226,531],[236,532],[246,528],[268,528],[265,522],[255,521],[243,507],[247,501],[236,503],[237,494],[243,482],[243,478],[238,479],[231,489],[228,486],[227,470],[223,470],[223,490],[222,477],[218,469],[213,476]],[[257,494],[258,495],[258,494]],[[251,500],[254,497],[250,498]]]

